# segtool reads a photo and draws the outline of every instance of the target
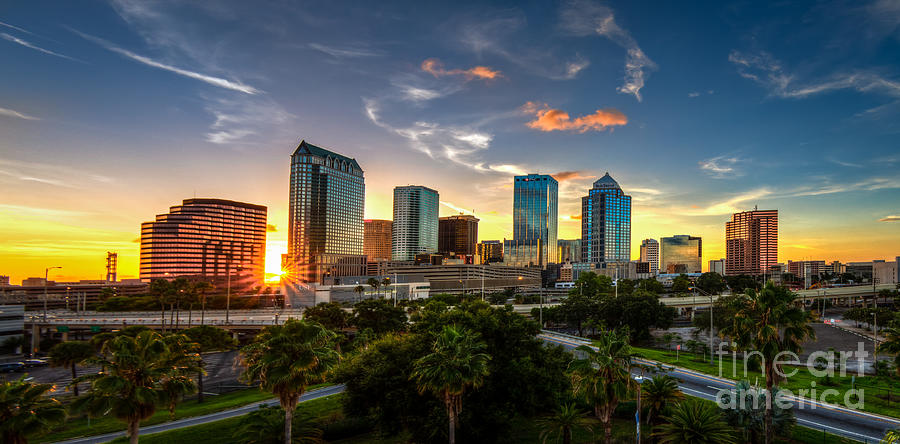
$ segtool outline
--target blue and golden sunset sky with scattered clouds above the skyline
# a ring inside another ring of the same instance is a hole
[[[4,2],[0,274],[137,277],[182,199],[266,205],[286,251],[307,140],[512,237],[515,174],[560,181],[559,238],[609,172],[641,239],[780,212],[779,260],[900,255],[900,2]],[[705,265],[704,265],[705,266]]]

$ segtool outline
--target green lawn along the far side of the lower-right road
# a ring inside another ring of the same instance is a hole
[[[718,359],[716,360],[716,365],[710,365],[708,360],[703,359],[703,355],[682,351],[678,353],[678,360],[676,361],[674,351],[643,347],[634,348],[647,359],[677,365],[709,375],[720,376]],[[722,359],[721,377],[734,380],[747,379],[752,384],[757,381],[760,385],[765,384],[765,377],[761,372],[748,370],[746,376],[741,376],[744,375],[744,360],[741,358],[740,354],[737,356],[736,367],[732,367],[734,361],[732,356],[727,356]],[[855,383],[856,389],[863,392],[862,400],[864,402],[862,403],[863,407],[861,410],[900,418],[900,380],[896,378],[863,376],[855,378],[854,381],[854,378],[852,377],[854,372],[848,371],[847,376],[835,375],[831,378],[830,383],[826,384],[825,378],[813,376],[805,367],[785,366],[784,372],[790,374],[794,369],[797,370],[797,374],[789,377],[787,382],[781,384],[782,388],[790,390],[794,395],[800,395],[799,391],[801,389],[809,390],[813,387],[812,384],[815,383],[817,397],[820,396],[823,390],[834,389],[840,394],[837,396],[829,396],[828,402],[845,405],[845,392],[851,388],[851,384]],[[809,394],[805,396],[811,397]],[[819,399],[821,400],[821,398]]]

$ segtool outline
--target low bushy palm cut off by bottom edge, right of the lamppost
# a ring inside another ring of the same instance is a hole
[[[690,399],[676,404],[666,423],[653,436],[662,444],[730,444],[735,441],[731,427],[722,420],[715,404]]]

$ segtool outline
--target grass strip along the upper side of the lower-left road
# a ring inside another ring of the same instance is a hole
[[[311,386],[309,389],[313,390],[325,385],[327,384],[319,384]],[[202,404],[196,400],[183,401],[178,404],[178,407],[175,409],[175,419],[220,412],[272,398],[271,393],[263,392],[258,388],[237,390],[218,396],[206,396]],[[169,411],[165,408],[160,408],[152,417],[141,422],[141,426],[160,424],[167,421],[169,421]],[[74,417],[47,434],[31,437],[29,441],[35,443],[56,442],[81,436],[102,435],[120,430],[125,430],[125,423],[113,417],[92,418],[90,426],[88,426],[86,417]]]

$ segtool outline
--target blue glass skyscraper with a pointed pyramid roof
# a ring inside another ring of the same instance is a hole
[[[582,262],[631,261],[631,196],[609,173],[581,198]]]

